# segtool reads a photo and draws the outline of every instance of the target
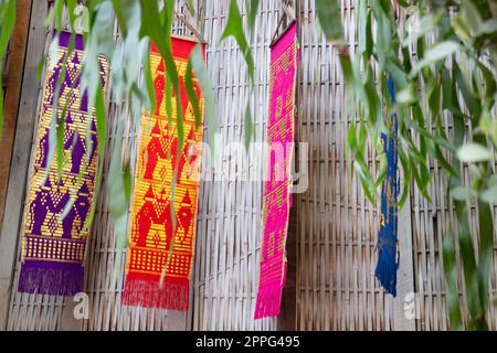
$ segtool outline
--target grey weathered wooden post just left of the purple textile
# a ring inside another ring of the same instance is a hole
[[[24,1],[18,1],[18,6]],[[43,53],[47,14],[46,1],[33,1],[28,50],[22,79],[21,101],[17,120],[13,153],[10,164],[9,186],[6,197],[6,213],[0,233],[0,330],[7,328],[14,261],[18,254],[19,234],[22,222],[28,168],[30,162],[33,126],[38,114],[36,68],[40,53]]]

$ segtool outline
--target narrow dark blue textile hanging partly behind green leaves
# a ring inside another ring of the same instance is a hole
[[[395,101],[393,82],[388,81],[391,101]],[[389,117],[388,105],[383,104],[383,115],[389,133],[381,135],[381,145],[387,156],[387,175],[381,191],[380,232],[378,234],[378,264],[374,275],[384,290],[396,297],[398,250],[398,122],[396,115]]]

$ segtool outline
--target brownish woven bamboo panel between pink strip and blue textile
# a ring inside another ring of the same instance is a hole
[[[309,189],[297,196],[300,330],[392,330],[393,300],[374,279],[377,210],[346,162],[345,87],[337,51],[317,29],[315,2],[299,1],[299,141],[309,143]],[[355,51],[355,1],[341,0]],[[357,126],[357,124],[356,124]],[[372,146],[367,159],[374,168]]]

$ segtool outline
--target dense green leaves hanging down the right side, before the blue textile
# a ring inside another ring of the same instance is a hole
[[[357,1],[358,50],[349,53],[341,42],[338,2],[316,0],[325,35],[339,47],[351,97],[347,99],[348,111],[360,117],[361,129],[367,131],[357,133],[357,127],[350,127],[349,157],[366,195],[376,202],[384,173],[374,179],[367,170],[366,148],[369,140],[385,131],[381,106],[389,99],[383,93],[387,76],[391,77],[398,99],[396,105],[387,104],[399,117],[399,159],[404,176],[400,205],[406,200],[411,181],[430,201],[427,160],[434,158],[447,180],[448,204],[455,206],[457,215],[458,247],[453,242],[452,225],[447,225],[443,257],[451,327],[462,329],[467,320],[469,329],[485,330],[494,247],[491,207],[497,201],[491,165],[497,143],[497,4],[493,0],[395,3],[398,8],[387,0]],[[396,13],[406,13],[405,25],[399,25]],[[453,122],[450,136],[443,125],[445,117]],[[383,165],[381,151],[374,146]],[[462,163],[468,164],[469,182],[461,172]],[[475,203],[478,234],[472,234],[468,218],[469,205]],[[462,259],[462,274],[456,258]],[[468,318],[462,318],[458,278],[464,278]]]

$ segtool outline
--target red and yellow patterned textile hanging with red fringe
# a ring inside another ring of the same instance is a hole
[[[202,127],[195,129],[194,114],[184,87],[188,60],[197,42],[172,38],[171,44],[180,78],[184,145],[178,154],[177,117],[176,114],[171,119],[167,116],[165,63],[152,44],[150,66],[157,108],[152,116],[144,115],[141,122],[123,302],[187,311],[193,264]],[[200,87],[195,78],[193,82],[203,114]],[[173,97],[171,100],[171,110],[176,113],[177,99]],[[178,179],[171,207],[175,167],[178,168]],[[172,253],[169,253],[171,242]]]

